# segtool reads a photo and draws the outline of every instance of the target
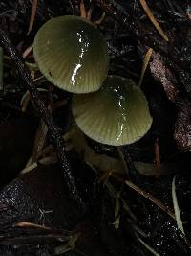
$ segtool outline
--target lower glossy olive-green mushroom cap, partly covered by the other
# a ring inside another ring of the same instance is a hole
[[[117,76],[109,76],[97,92],[74,95],[72,108],[78,127],[107,145],[134,143],[152,124],[143,92],[133,81]]]

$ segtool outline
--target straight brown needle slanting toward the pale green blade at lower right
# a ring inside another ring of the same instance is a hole
[[[125,180],[125,184],[127,186],[129,186],[130,188],[136,190],[138,192],[138,194],[140,194],[141,196],[143,196],[144,198],[149,199],[150,201],[152,201],[153,203],[155,203],[162,211],[164,211],[165,213],[167,213],[171,218],[173,218],[175,220],[175,215],[174,213],[169,209],[168,206],[165,206],[163,203],[161,203],[157,198],[154,198],[152,195],[150,195],[148,192],[145,192],[144,190],[138,188],[137,185],[135,185],[134,183]]]

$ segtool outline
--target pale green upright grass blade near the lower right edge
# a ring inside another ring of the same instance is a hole
[[[184,229],[183,229],[183,224],[181,221],[181,216],[180,216],[180,208],[177,200],[177,194],[176,194],[176,185],[175,185],[175,179],[176,176],[173,177],[173,182],[172,182],[172,198],[173,198],[173,206],[174,206],[174,211],[175,211],[175,218],[177,221],[177,226],[180,229],[180,235],[181,233],[185,235]]]

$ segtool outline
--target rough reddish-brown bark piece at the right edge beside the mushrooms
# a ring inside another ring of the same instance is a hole
[[[175,124],[174,138],[182,151],[191,151],[191,105],[183,100],[178,88],[178,81],[173,72],[164,64],[164,58],[158,53],[153,54],[150,62],[153,77],[159,81],[171,102],[178,106],[178,117]]]

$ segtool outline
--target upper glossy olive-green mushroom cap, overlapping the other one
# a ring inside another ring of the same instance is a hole
[[[107,44],[91,22],[66,15],[55,17],[37,32],[35,61],[54,85],[74,93],[93,92],[107,77]]]

